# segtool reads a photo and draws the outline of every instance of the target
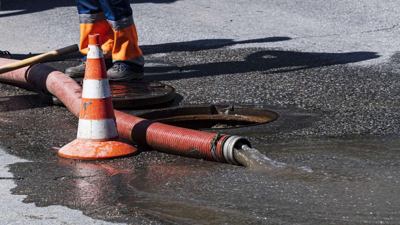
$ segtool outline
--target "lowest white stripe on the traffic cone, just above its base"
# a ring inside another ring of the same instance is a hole
[[[79,119],[78,138],[106,139],[118,136],[117,125],[114,119],[85,120]]]

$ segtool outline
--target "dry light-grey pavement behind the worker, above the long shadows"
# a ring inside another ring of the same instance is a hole
[[[74,1],[51,3],[54,8],[49,6],[50,9],[40,12],[35,12],[34,8],[44,7],[40,3],[46,1],[2,2],[0,49],[27,54],[78,43],[79,26]],[[26,9],[8,6],[9,2],[28,4],[32,13],[18,15],[18,12]],[[285,42],[238,44],[234,47],[284,48],[307,52],[378,52],[382,57],[361,62],[370,64],[387,60],[397,51],[395,46],[399,42],[397,26],[400,9],[396,0],[132,2],[145,2],[131,4],[140,45],[203,39],[240,41],[290,37],[292,40]],[[17,15],[6,16],[12,13]]]

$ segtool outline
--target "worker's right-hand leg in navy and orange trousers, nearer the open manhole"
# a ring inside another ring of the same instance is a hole
[[[113,62],[136,73],[143,72],[144,58],[138,46],[138,34],[129,0],[100,0],[100,5],[114,30]]]

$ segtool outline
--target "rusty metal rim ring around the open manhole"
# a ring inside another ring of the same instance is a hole
[[[221,109],[226,109],[226,110],[230,110],[234,111],[235,109],[247,109],[249,111],[255,111],[255,112],[265,112],[266,114],[269,114],[269,116],[271,117],[270,119],[263,121],[263,122],[259,122],[259,123],[252,123],[252,124],[248,124],[248,125],[238,125],[238,126],[229,126],[229,127],[218,127],[218,128],[214,128],[214,127],[210,127],[210,128],[199,128],[197,130],[199,131],[210,131],[210,130],[227,130],[227,129],[239,129],[239,128],[245,128],[245,127],[254,127],[254,126],[258,126],[258,125],[264,125],[270,122],[273,122],[275,120],[277,120],[280,115],[277,112],[274,112],[272,110],[268,110],[268,109],[264,109],[262,107],[257,107],[255,105],[249,105],[249,104],[236,104],[236,105],[228,105],[228,104],[200,104],[200,105],[182,105],[182,106],[175,106],[172,108],[163,108],[163,109],[157,109],[157,110],[152,110],[152,111],[148,111],[148,112],[142,112],[140,114],[137,114],[137,117],[143,118],[143,119],[148,119],[154,122],[158,122],[158,123],[171,123],[171,122],[176,122],[176,121],[168,121],[172,118],[179,118],[179,117],[184,117],[184,116],[180,116],[180,115],[175,115],[173,117],[160,117],[160,118],[149,118],[149,115],[151,116],[151,114],[154,114],[155,112],[166,112],[166,111],[171,111],[171,110],[175,110],[175,111],[179,111],[179,110],[185,110],[185,109],[195,109],[195,108],[219,108]],[[218,111],[219,112],[219,111]],[[202,121],[204,119],[206,119],[205,117],[210,117],[212,115],[215,115],[217,117],[220,117],[219,119],[222,119],[223,117],[228,117],[229,115],[227,114],[192,114],[192,115],[186,115],[186,117],[189,117],[188,120],[186,121],[190,121],[190,117],[200,117],[200,119],[198,119],[198,121]],[[257,118],[257,116],[252,116],[252,115],[231,115],[233,117],[238,117],[238,118],[244,118],[244,117],[252,117],[252,118]],[[192,120],[193,120],[192,118]],[[232,118],[232,117],[231,117]],[[260,118],[260,117],[258,117]],[[195,120],[195,119],[194,119]],[[216,120],[216,119],[214,119]],[[185,121],[184,119],[182,120],[178,120],[178,122],[180,121]],[[231,121],[231,120],[226,120],[226,121]],[[247,121],[249,122],[249,121]],[[250,121],[251,122],[251,121]],[[176,126],[176,125],[174,125]]]

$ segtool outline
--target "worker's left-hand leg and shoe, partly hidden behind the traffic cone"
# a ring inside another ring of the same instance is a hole
[[[89,34],[100,34],[100,43],[104,58],[111,58],[114,45],[114,31],[106,20],[99,0],[75,0],[79,13],[80,52],[85,56],[78,66],[65,70],[65,74],[72,77],[83,77],[86,69],[86,54],[88,53]]]

